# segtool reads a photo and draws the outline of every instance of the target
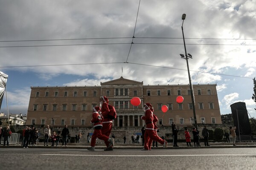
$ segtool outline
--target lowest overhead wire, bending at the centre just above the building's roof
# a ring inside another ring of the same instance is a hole
[[[168,68],[168,69],[174,69],[174,70],[187,71],[186,69],[181,69],[181,68],[172,68],[172,67],[166,67],[166,66],[140,64],[140,63],[134,63],[134,62],[102,62],[102,63],[82,63],[82,64],[23,65],[23,66],[20,65],[20,66],[2,66],[2,67],[0,66],[0,68],[50,67],[50,66],[66,66],[66,65],[95,65],[95,64],[120,64],[120,63],[134,64],[134,65],[144,65],[144,66],[150,66],[150,67]],[[190,70],[190,71],[193,71],[193,70]],[[218,74],[218,73],[210,73],[210,72],[204,72],[204,71],[193,71],[193,72],[206,73],[206,74],[215,74],[215,75],[221,75],[221,76],[230,76],[230,77],[239,77],[239,78],[253,79],[252,77],[241,77],[241,76],[234,76],[234,75],[229,75],[229,74]]]

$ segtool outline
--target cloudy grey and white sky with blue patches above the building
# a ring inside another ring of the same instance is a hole
[[[217,83],[221,114],[245,102],[256,117],[256,0],[0,0],[9,113],[27,112],[31,86],[100,85],[121,75],[189,84],[179,55],[183,13],[193,84]]]

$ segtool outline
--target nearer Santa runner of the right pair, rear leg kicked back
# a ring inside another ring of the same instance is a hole
[[[163,147],[167,147],[167,141],[161,139],[159,136],[156,135],[154,131],[154,116],[153,116],[153,107],[150,103],[145,103],[144,105],[145,116],[141,116],[141,119],[145,121],[146,130],[144,134],[144,148],[142,150],[150,150],[148,144],[149,140],[152,139],[160,144],[163,144]]]

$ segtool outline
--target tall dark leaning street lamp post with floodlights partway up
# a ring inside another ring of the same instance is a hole
[[[180,56],[181,56],[181,58],[186,59],[186,64],[187,64],[188,74],[189,74],[189,86],[190,86],[190,93],[191,93],[191,99],[192,99],[192,108],[193,108],[194,122],[195,122],[195,128],[197,129],[197,121],[196,121],[196,114],[195,114],[195,96],[194,96],[192,80],[191,80],[191,77],[190,77],[189,61],[188,61],[189,58],[192,59],[192,55],[186,53],[186,44],[185,44],[185,38],[184,38],[184,32],[183,32],[183,23],[184,23],[185,18],[186,18],[186,14],[182,14],[182,20],[183,21],[182,21],[181,29],[182,29],[182,35],[183,35],[184,48],[185,48],[185,56],[183,54],[180,54]]]

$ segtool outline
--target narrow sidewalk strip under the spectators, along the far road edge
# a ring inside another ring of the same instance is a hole
[[[61,144],[58,144],[58,146],[51,147],[51,142],[48,143],[48,146],[44,146],[43,142],[39,142],[36,146],[29,146],[29,148],[81,148],[81,149],[87,149],[90,147],[90,143],[67,143],[67,147],[61,147]],[[203,145],[202,145],[203,144]],[[237,142],[236,146],[233,146],[232,143],[225,143],[225,142],[212,142],[209,143],[210,146],[204,146],[204,143],[201,143],[200,147],[194,147],[194,143],[191,143],[191,147],[188,147],[186,143],[178,143],[179,147],[173,147],[172,143],[168,143],[167,149],[194,149],[194,148],[230,148],[230,147],[256,147],[255,142]],[[1,147],[6,147],[1,145]],[[21,143],[19,144],[10,144],[9,147],[22,147]],[[104,143],[97,143],[95,146],[97,149],[105,149],[106,146]],[[123,143],[115,143],[114,149],[142,149],[142,144],[123,144]],[[152,150],[154,149],[164,149],[161,144],[158,144],[158,147],[151,147]]]

